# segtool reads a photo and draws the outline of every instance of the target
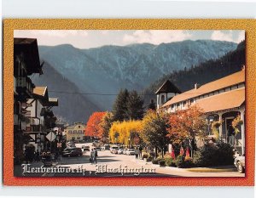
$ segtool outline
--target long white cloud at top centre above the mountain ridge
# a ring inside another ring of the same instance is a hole
[[[179,42],[192,37],[186,31],[134,31],[132,34],[125,34],[123,42],[125,43],[143,43],[149,42],[160,44],[162,42]]]

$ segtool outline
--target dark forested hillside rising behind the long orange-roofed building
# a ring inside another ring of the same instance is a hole
[[[195,83],[206,84],[221,77],[228,76],[236,71],[240,71],[242,65],[246,64],[245,41],[237,45],[236,50],[224,54],[219,59],[209,59],[199,65],[184,68],[180,71],[172,71],[161,76],[158,80],[145,88],[145,103],[149,104],[150,99],[154,99],[154,92],[166,80],[173,82],[182,92],[194,88]]]

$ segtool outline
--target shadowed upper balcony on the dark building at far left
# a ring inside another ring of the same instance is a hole
[[[29,97],[32,96],[35,86],[28,76],[18,76],[15,81],[17,93],[26,93]]]

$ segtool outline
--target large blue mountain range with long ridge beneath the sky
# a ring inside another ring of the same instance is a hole
[[[73,82],[80,93],[93,93],[86,95],[91,103],[101,110],[111,110],[120,88],[143,90],[164,74],[218,59],[236,46],[234,42],[211,40],[89,49],[64,44],[40,46],[39,54],[61,76]]]

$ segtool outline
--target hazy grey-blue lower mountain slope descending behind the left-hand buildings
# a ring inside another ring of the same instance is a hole
[[[44,74],[32,76],[32,82],[36,86],[47,85],[49,97],[59,98],[59,106],[53,107],[56,116],[65,118],[69,123],[86,122],[91,112],[100,110],[86,96],[75,94],[79,93],[79,88],[65,76],[61,76],[49,63],[45,62],[43,68]]]

